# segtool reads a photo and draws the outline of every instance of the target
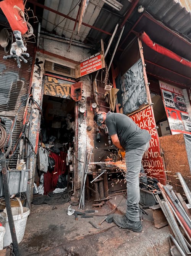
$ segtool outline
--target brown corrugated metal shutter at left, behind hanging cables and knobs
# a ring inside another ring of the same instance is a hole
[[[14,59],[4,60],[3,56],[6,54],[3,48],[0,47],[0,117],[5,119],[8,130],[11,129],[19,104],[28,94],[34,46],[32,43],[27,44],[27,52],[30,57],[27,58],[28,63],[21,62],[21,68],[17,67]],[[25,105],[21,107],[17,117],[12,136],[13,147],[22,130],[24,108]],[[6,163],[8,167],[16,168],[16,161],[17,157],[13,155],[11,159],[7,159]]]

